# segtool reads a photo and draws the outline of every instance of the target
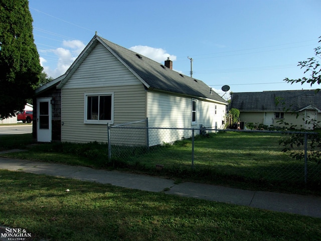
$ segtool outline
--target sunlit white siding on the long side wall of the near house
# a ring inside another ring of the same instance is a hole
[[[167,93],[147,92],[147,117],[149,127],[196,128],[200,125],[209,128],[222,128],[225,118],[225,105],[197,99],[197,124],[192,125],[191,97]],[[215,104],[217,114],[215,115]],[[163,142],[172,143],[182,138],[190,138],[190,130],[149,130],[149,146]],[[195,133],[196,135],[198,132]]]

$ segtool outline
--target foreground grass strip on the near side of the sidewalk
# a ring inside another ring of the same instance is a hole
[[[319,218],[5,170],[0,223],[56,241],[321,238]]]

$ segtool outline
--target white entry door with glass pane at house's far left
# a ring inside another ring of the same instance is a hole
[[[37,99],[37,141],[51,142],[51,98]]]

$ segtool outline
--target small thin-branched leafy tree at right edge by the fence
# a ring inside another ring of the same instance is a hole
[[[321,36],[319,37],[321,39]],[[318,42],[321,42],[319,40]],[[315,51],[315,57],[321,58],[321,46],[314,49]],[[305,73],[309,73],[309,77],[302,77],[299,79],[289,79],[285,78],[284,81],[288,83],[309,83],[311,86],[313,84],[320,84],[321,83],[321,68],[318,60],[315,58],[308,58],[305,61],[298,62],[298,66],[301,66],[301,68],[305,69]],[[316,89],[316,92],[320,89]],[[296,115],[296,117],[300,117],[299,114]],[[307,153],[307,158],[309,161],[315,161],[317,163],[321,162],[321,128],[319,125],[319,122],[317,122],[315,119],[312,118],[306,118],[303,117],[306,124],[312,123],[313,124],[313,131],[317,132],[317,135],[308,135],[308,143],[309,143],[309,152]],[[293,128],[297,128],[295,126],[292,126]],[[301,127],[302,129],[302,127]],[[304,159],[304,152],[295,152],[293,149],[295,147],[302,147],[304,145],[304,135],[303,134],[292,134],[290,138],[288,139],[281,139],[279,141],[280,145],[283,145],[283,152],[291,151],[290,155],[295,158],[302,160]]]

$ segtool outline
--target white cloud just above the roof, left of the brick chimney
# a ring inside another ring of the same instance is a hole
[[[164,62],[168,57],[170,57],[170,59],[173,61],[176,60],[175,55],[170,55],[166,52],[166,50],[161,48],[137,45],[130,47],[129,49],[157,62]]]

